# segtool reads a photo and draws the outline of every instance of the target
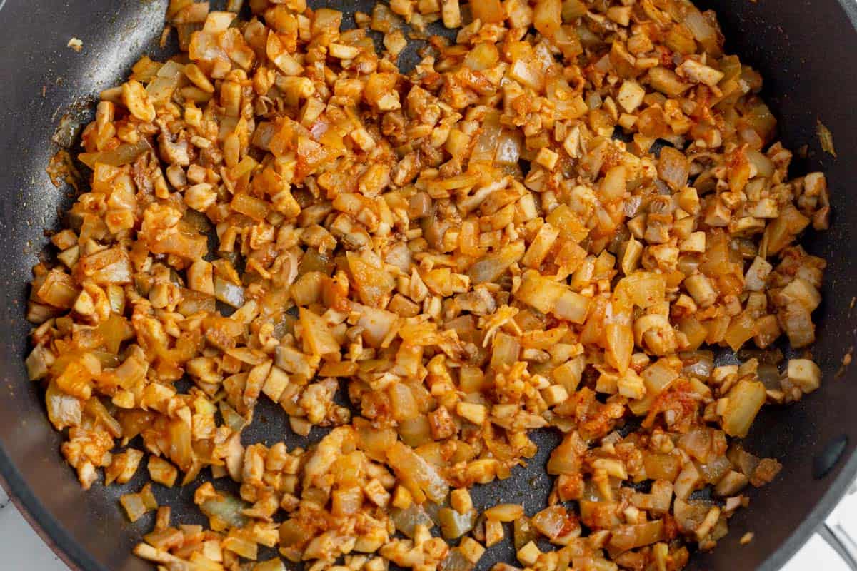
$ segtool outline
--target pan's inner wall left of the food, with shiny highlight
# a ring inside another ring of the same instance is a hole
[[[61,437],[21,365],[27,281],[47,240],[44,229],[56,228],[58,209],[69,205],[69,189],[57,189],[45,173],[57,150],[51,135],[63,115],[89,121],[93,96],[155,47],[166,4],[0,2],[0,471],[45,534],[87,571],[149,566],[129,555],[136,534],[117,509],[117,492],[83,494],[63,467]],[[66,47],[72,37],[83,41],[81,53]]]

